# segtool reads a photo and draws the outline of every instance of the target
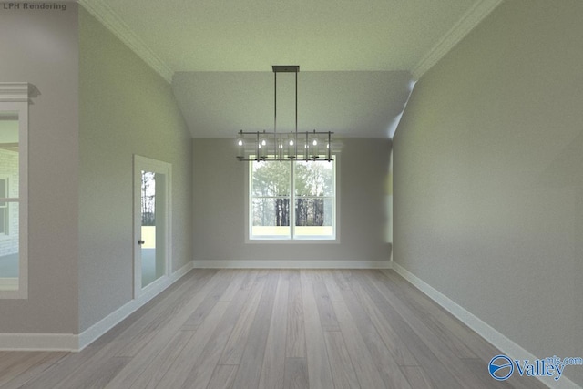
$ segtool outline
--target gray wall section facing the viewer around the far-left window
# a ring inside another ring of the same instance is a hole
[[[0,300],[0,333],[77,333],[77,5],[0,10],[0,82],[26,81],[28,299]]]

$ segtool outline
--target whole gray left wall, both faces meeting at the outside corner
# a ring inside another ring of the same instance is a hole
[[[189,131],[169,84],[76,4],[0,10],[0,51],[0,82],[40,93],[28,299],[0,300],[0,333],[81,333],[132,298],[134,153],[172,163],[172,270],[191,261]]]

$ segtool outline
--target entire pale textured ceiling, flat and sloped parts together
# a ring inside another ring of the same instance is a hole
[[[271,65],[301,67],[301,128],[386,137],[412,82],[500,1],[80,3],[172,83],[193,137],[272,128]]]

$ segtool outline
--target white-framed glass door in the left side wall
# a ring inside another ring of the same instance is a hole
[[[134,298],[169,277],[171,168],[134,155]]]

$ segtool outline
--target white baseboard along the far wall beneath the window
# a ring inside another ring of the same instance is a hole
[[[194,261],[195,269],[391,269],[391,261]]]

